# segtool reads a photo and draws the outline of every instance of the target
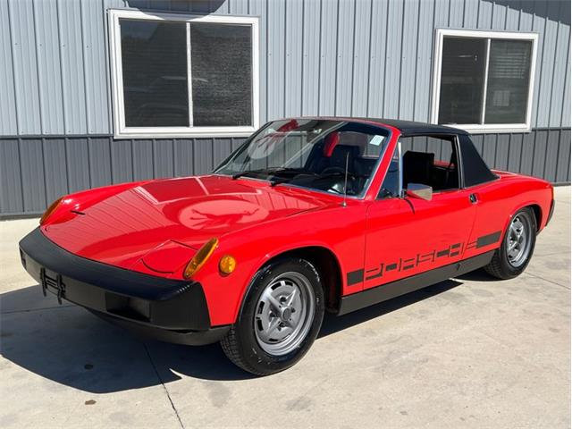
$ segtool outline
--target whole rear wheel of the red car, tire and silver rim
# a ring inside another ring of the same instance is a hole
[[[489,265],[487,273],[499,279],[511,279],[522,273],[533,256],[536,243],[536,218],[530,207],[519,210],[509,223],[509,228]]]

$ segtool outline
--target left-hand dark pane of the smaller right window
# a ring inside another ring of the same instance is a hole
[[[439,123],[481,123],[486,40],[443,38]]]

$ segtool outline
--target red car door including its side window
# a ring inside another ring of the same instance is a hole
[[[415,173],[408,175],[407,172],[412,168],[423,169],[423,165],[416,165],[411,159],[430,156],[408,156],[408,152],[433,154],[432,172],[427,180],[421,177],[423,174],[415,177]],[[383,189],[367,209],[364,289],[460,260],[475,222],[475,205],[470,192],[459,186],[457,160],[458,142],[454,137],[400,139]],[[401,192],[400,183],[405,180],[402,187],[407,189],[408,176],[429,182],[422,184],[431,185],[434,181],[433,198],[425,200],[410,196],[407,191]],[[444,179],[445,176],[448,177]],[[386,186],[395,189],[395,183],[398,183],[397,190],[384,189]]]

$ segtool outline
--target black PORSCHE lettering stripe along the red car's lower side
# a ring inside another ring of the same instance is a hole
[[[497,243],[501,240],[501,231],[492,232],[491,234],[483,235],[478,237],[476,240],[467,243],[465,250],[471,248],[484,248],[485,246],[490,246],[491,244]],[[464,243],[454,243],[448,248],[434,249],[431,252],[418,253],[416,257],[410,257],[404,259],[400,257],[397,262],[391,263],[380,263],[377,266],[369,268],[367,270],[361,269],[356,271],[351,271],[347,274],[348,286],[358,284],[366,280],[374,280],[379,277],[383,277],[383,273],[389,273],[391,271],[408,271],[416,266],[435,262],[436,260],[445,259],[449,257],[458,257],[458,255],[463,251]]]

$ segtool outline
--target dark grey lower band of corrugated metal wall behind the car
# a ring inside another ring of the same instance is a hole
[[[570,130],[473,136],[490,166],[570,182]],[[0,215],[40,213],[81,189],[211,171],[244,139],[114,140],[101,137],[2,139]],[[43,178],[38,180],[38,178]]]

